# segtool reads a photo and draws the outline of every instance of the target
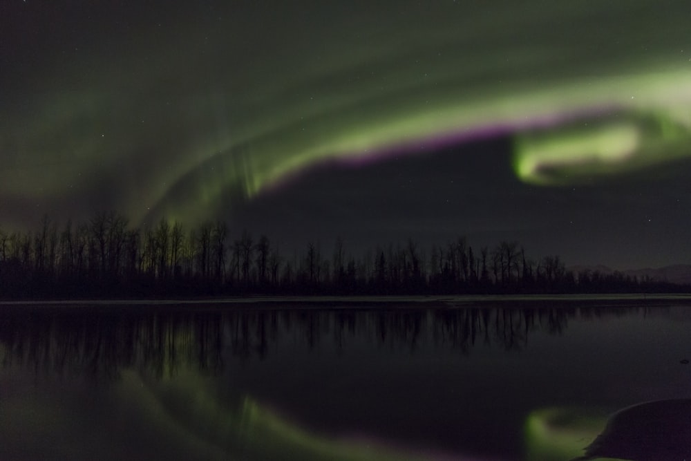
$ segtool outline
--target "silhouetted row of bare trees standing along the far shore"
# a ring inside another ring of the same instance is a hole
[[[520,243],[473,248],[460,237],[426,251],[408,239],[361,256],[309,242],[286,258],[265,235],[232,238],[223,221],[185,229],[162,219],[135,229],[115,212],[35,232],[0,229],[0,297],[156,297],[243,294],[522,294],[686,292],[621,272],[567,271],[559,256]]]

